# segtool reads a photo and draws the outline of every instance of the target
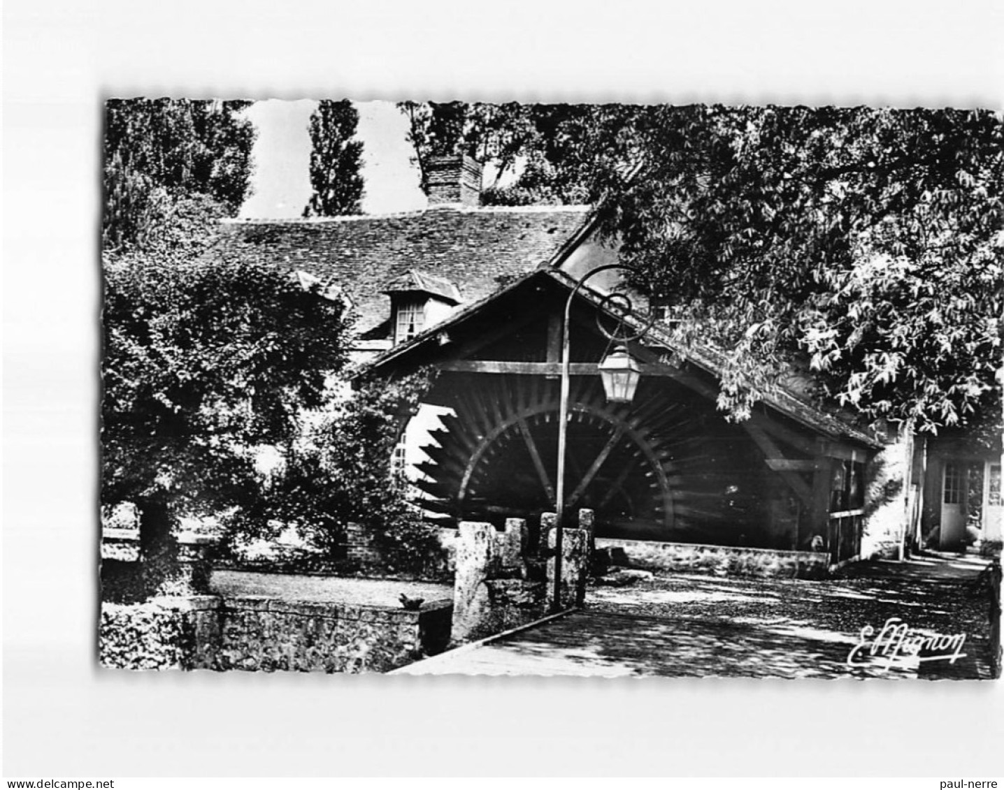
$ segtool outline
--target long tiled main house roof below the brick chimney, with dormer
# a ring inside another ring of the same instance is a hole
[[[211,255],[277,264],[341,286],[365,333],[389,318],[383,293],[412,270],[459,287],[466,303],[547,263],[588,207],[465,209],[324,220],[226,221]]]

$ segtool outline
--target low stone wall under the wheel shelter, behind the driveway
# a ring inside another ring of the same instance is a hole
[[[704,543],[661,543],[649,540],[596,538],[596,548],[613,564],[649,570],[675,570],[717,575],[818,578],[826,575],[829,556],[818,551],[782,551]]]

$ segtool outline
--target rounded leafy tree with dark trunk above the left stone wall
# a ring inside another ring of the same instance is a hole
[[[264,512],[256,448],[290,441],[321,406],[346,317],[240,261],[118,256],[104,275],[101,500],[137,505],[156,589],[176,568],[179,516]]]

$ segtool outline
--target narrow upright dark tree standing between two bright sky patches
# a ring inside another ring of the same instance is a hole
[[[310,115],[310,184],[304,217],[359,214],[362,200],[361,140],[353,139],[359,113],[347,99],[323,99]]]

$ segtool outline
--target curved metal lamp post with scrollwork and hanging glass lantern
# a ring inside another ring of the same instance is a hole
[[[628,272],[637,272],[636,269],[630,266],[623,266],[621,264],[606,264],[604,266],[596,267],[595,269],[587,272],[572,289],[571,293],[568,295],[568,299],[565,301],[564,309],[564,320],[562,322],[562,335],[561,335],[561,399],[559,403],[559,413],[558,413],[558,475],[557,475],[557,490],[555,492],[555,524],[554,524],[554,602],[551,606],[553,612],[559,612],[561,610],[561,552],[563,550],[563,537],[564,537],[564,490],[565,490],[565,455],[567,454],[567,444],[568,444],[568,397],[569,390],[571,388],[569,367],[570,367],[570,355],[569,355],[569,318],[571,316],[571,303],[575,299],[575,295],[579,290],[585,285],[585,282],[592,278],[594,275],[598,275],[600,272],[605,272],[611,269],[620,269]],[[609,294],[603,298],[602,305],[607,303],[617,303],[619,305],[620,312],[626,314],[632,310],[631,299],[619,293]],[[599,323],[599,317],[596,317],[596,326],[599,331],[606,336],[606,338],[618,345],[613,349],[613,351],[608,354],[602,362],[599,363],[599,376],[603,383],[603,391],[606,394],[606,400],[611,403],[630,403],[635,397],[635,391],[638,389],[638,382],[641,378],[641,367],[638,362],[631,356],[628,351],[628,342],[631,340],[637,340],[645,335],[652,326],[655,317],[652,316],[649,322],[642,328],[641,331],[631,334],[631,335],[616,335],[607,332],[601,323]],[[615,332],[615,331],[614,331]]]

